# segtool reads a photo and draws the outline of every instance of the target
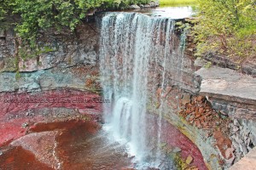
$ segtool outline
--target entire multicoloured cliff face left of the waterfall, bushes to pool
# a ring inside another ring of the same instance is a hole
[[[38,44],[50,48],[50,52],[30,58],[26,56],[28,50],[19,59],[15,56],[14,31],[1,34],[0,145],[25,135],[26,128],[38,122],[83,115],[101,119],[97,31],[96,22],[89,22],[75,33],[42,32]]]

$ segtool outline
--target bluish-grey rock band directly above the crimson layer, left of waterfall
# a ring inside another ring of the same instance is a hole
[[[82,91],[100,89],[98,69],[93,65],[55,67],[49,70],[20,73],[3,72],[0,74],[0,92],[37,92],[44,90],[74,88]]]

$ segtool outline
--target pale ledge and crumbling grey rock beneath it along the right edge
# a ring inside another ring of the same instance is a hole
[[[201,95],[207,96],[212,108],[228,116],[229,138],[234,162],[255,146],[256,79],[226,68],[201,68]]]

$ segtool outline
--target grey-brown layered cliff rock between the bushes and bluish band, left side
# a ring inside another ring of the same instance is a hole
[[[5,31],[0,38],[0,71],[39,71],[56,66],[96,65],[98,27],[95,22],[79,26],[76,32],[68,30],[40,32],[38,51],[20,46],[14,31]],[[18,49],[16,49],[18,48]],[[15,56],[18,50],[19,58]],[[18,61],[18,65],[17,65]]]

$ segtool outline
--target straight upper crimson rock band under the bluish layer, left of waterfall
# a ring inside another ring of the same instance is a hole
[[[9,112],[26,111],[32,108],[65,107],[78,109],[101,109],[100,96],[76,90],[51,90],[35,94],[0,94],[3,116]]]

